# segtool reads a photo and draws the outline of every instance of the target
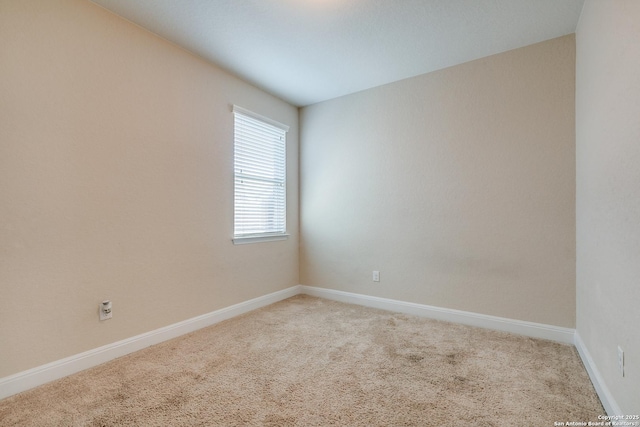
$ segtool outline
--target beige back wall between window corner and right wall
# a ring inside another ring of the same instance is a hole
[[[569,35],[302,109],[302,284],[574,327],[574,78]]]

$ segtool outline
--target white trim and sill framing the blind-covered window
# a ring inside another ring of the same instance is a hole
[[[282,124],[278,121],[275,121],[273,119],[270,119],[268,117],[262,116],[260,114],[254,113],[253,111],[247,110],[243,107],[240,107],[238,105],[233,105],[232,106],[232,112],[234,114],[234,138],[233,138],[233,147],[234,147],[234,170],[233,170],[233,182],[234,182],[234,203],[233,203],[233,209],[234,209],[234,214],[233,214],[233,238],[231,239],[234,245],[241,245],[241,244],[248,244],[248,243],[259,243],[259,242],[273,242],[273,241],[281,241],[281,240],[287,240],[289,238],[289,235],[287,233],[287,221],[286,221],[286,217],[287,217],[287,167],[286,167],[286,152],[287,152],[287,146],[286,146],[286,133],[289,131],[289,126]],[[285,165],[284,165],[284,184],[285,184],[285,193],[284,193],[284,231],[283,232],[264,232],[264,233],[254,233],[254,234],[243,234],[243,235],[236,235],[235,234],[235,228],[236,228],[236,201],[235,201],[235,197],[236,197],[236,168],[235,168],[235,153],[236,153],[236,125],[235,125],[235,120],[236,120],[236,114],[254,119],[254,120],[258,120],[261,121],[269,126],[273,126],[275,128],[278,128],[280,130],[283,131],[283,133],[285,134],[285,139],[284,139],[284,154],[285,154]]]

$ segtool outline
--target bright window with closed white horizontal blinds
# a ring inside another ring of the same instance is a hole
[[[289,127],[235,105],[233,115],[233,242],[285,239]]]

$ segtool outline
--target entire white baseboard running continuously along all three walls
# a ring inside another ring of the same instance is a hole
[[[622,413],[620,411],[620,407],[616,404],[609,392],[609,389],[605,385],[602,376],[598,372],[598,369],[584,346],[584,343],[580,339],[580,336],[577,335],[573,329],[303,285],[283,289],[262,297],[225,307],[202,316],[178,322],[164,328],[156,329],[135,337],[98,347],[93,350],[57,360],[46,365],[38,366],[27,371],[19,372],[5,378],[0,378],[0,399],[100,365],[151,345],[213,325],[223,320],[248,313],[252,310],[298,294],[306,294],[350,304],[358,304],[399,313],[573,344],[578,349],[578,353],[583,360],[607,414],[619,415]]]

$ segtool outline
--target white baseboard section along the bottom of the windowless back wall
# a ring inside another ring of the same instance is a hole
[[[575,330],[570,328],[545,325],[542,323],[525,322],[522,320],[507,319],[504,317],[489,316],[486,314],[452,310],[430,305],[415,304],[369,295],[354,294],[351,292],[336,291],[333,289],[316,288],[312,286],[301,285],[301,292],[311,296],[350,304],[364,305],[367,307],[380,308],[382,310],[412,314],[415,316],[428,317],[453,323],[461,323],[463,325],[476,326],[485,329],[511,332],[518,335],[542,338],[565,344],[574,344]]]

